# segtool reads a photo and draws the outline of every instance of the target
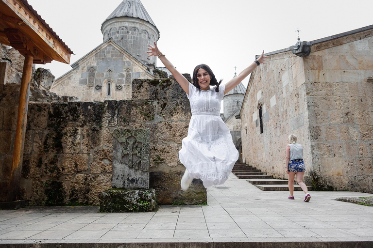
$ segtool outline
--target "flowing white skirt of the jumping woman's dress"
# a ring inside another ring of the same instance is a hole
[[[180,162],[189,176],[204,187],[223,184],[238,159],[228,127],[216,115],[192,115],[188,135],[179,151]]]

